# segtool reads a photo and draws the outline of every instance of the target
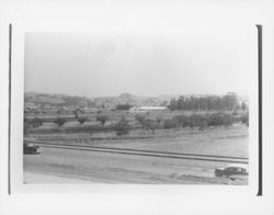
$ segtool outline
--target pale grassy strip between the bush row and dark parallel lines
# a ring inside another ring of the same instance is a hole
[[[118,148],[239,157],[248,157],[248,127],[244,125],[215,127],[204,131],[195,128],[159,129],[155,134],[137,129],[123,137],[117,137],[114,133],[27,135],[28,139],[41,139],[56,144],[115,146]]]

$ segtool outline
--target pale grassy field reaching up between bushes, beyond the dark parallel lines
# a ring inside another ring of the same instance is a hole
[[[190,115],[192,113],[155,111],[146,114],[146,116],[152,120],[157,117],[172,118],[179,114]],[[206,113],[208,112],[199,112],[199,114]],[[25,138],[48,140],[56,144],[115,145],[115,147],[121,148],[248,157],[249,131],[248,126],[242,123],[236,123],[230,126],[207,126],[203,129],[199,127],[175,127],[170,129],[158,127],[155,131],[146,131],[135,120],[136,113],[109,111],[103,114],[107,115],[107,121],[104,125],[100,125],[100,122],[96,122],[96,114],[89,115],[89,122],[82,125],[76,118],[66,122],[62,126],[44,122],[42,126],[31,128],[31,132],[25,134]],[[132,126],[127,135],[118,136],[113,129],[105,129],[118,121],[122,115],[126,116]],[[57,116],[47,115],[45,117],[54,118]],[[66,117],[73,118],[73,115],[66,115]],[[99,127],[99,129],[89,132],[93,127]]]

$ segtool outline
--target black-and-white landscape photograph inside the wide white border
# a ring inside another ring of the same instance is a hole
[[[256,29],[189,29],[25,33],[24,183],[248,184]]]

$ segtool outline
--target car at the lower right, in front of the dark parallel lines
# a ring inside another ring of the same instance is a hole
[[[215,169],[216,177],[227,177],[228,179],[232,176],[248,176],[248,166],[247,165],[239,165],[239,163],[231,163],[224,168]]]

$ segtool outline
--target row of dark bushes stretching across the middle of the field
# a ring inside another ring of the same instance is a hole
[[[151,131],[155,133],[155,131],[159,128],[164,129],[171,129],[171,128],[178,128],[178,127],[198,127],[199,129],[203,129],[207,126],[230,126],[233,123],[243,123],[247,126],[249,126],[249,113],[244,114],[228,114],[228,113],[207,113],[207,114],[198,114],[198,113],[192,113],[191,115],[175,115],[172,118],[160,118],[156,117],[153,120],[148,118],[147,115],[144,114],[136,114],[135,120],[140,124],[140,127],[145,131]],[[80,124],[83,124],[87,122],[88,118],[85,116],[78,117],[78,122]],[[105,115],[98,115],[96,121],[100,122],[100,124],[94,125],[85,125],[85,126],[67,126],[61,129],[61,132],[65,133],[101,133],[101,132],[115,132],[116,135],[126,135],[129,133],[130,129],[137,129],[138,127],[132,127],[128,123],[128,121],[122,116],[118,122],[115,124],[106,124],[107,116]],[[67,122],[64,117],[56,117],[54,123],[58,125],[59,127],[62,126]],[[30,132],[41,132],[38,129],[32,129],[32,127],[37,127],[43,125],[42,118],[24,118],[24,134],[27,134]],[[60,132],[58,128],[53,129],[43,129],[43,133],[55,133]]]

